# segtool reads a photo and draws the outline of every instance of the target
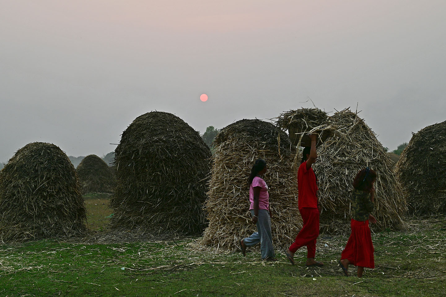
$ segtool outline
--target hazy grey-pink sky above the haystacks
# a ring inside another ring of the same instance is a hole
[[[0,0],[0,161],[113,151],[151,110],[203,133],[352,106],[391,150],[446,120],[443,0]],[[207,102],[199,96],[206,93]]]

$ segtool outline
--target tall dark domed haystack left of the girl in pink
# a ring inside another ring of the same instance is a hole
[[[149,112],[128,126],[115,152],[112,226],[202,232],[211,151],[197,131],[173,114]]]

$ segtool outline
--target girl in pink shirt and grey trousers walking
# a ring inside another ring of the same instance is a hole
[[[240,247],[244,256],[246,248],[260,242],[262,260],[275,261],[273,237],[271,236],[271,210],[269,208],[268,186],[263,179],[267,171],[266,161],[257,159],[248,178],[249,184],[249,211],[252,222],[257,225],[257,232],[240,240]]]

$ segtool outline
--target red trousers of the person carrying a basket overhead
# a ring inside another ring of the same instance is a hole
[[[319,210],[317,208],[304,207],[299,209],[304,223],[296,240],[289,247],[289,251],[295,253],[298,248],[307,247],[307,258],[316,255],[316,238],[319,236]]]

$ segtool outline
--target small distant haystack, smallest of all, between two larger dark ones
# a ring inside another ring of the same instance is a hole
[[[83,194],[111,193],[116,185],[116,178],[103,159],[88,155],[76,168],[82,185]]]

